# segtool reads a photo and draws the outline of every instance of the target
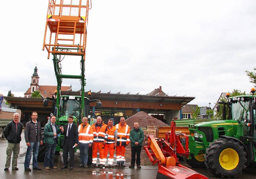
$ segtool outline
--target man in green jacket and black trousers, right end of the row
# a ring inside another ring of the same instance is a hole
[[[132,149],[132,161],[129,168],[134,168],[135,165],[135,157],[137,168],[141,168],[140,166],[140,152],[142,143],[144,140],[144,132],[141,128],[139,128],[138,122],[134,122],[134,128],[130,131],[130,142]]]

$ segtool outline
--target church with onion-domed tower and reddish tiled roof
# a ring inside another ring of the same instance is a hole
[[[34,68],[34,73],[31,77],[30,88],[24,93],[24,97],[30,98],[34,91],[39,91],[42,98],[52,97],[54,95],[57,86],[39,85],[39,75],[37,73],[37,67]],[[69,91],[72,90],[72,86],[62,86],[61,90]]]

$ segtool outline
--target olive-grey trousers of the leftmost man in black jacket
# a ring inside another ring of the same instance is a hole
[[[12,155],[13,152],[13,155]],[[8,146],[6,149],[6,164],[5,167],[9,168],[11,163],[12,156],[12,168],[17,167],[18,154],[20,153],[20,143],[10,143],[8,142]]]

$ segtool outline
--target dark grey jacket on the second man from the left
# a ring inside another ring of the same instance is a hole
[[[32,120],[28,121],[25,127],[25,140],[28,142],[40,142],[42,140],[41,134],[41,124],[37,121],[37,135],[36,135],[36,126]]]

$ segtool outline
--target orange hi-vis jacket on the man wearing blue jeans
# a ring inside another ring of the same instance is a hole
[[[78,126],[78,142],[89,144],[93,142],[92,127],[89,124],[83,128],[83,124]]]

